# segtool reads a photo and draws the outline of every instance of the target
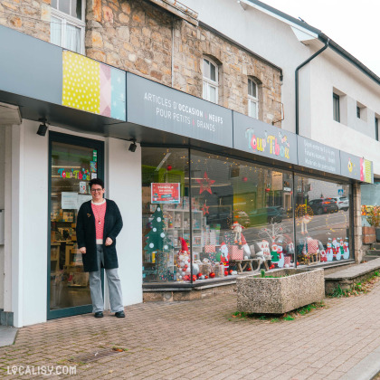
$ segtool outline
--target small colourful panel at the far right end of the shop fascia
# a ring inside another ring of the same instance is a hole
[[[372,161],[340,151],[340,173],[359,181],[374,183]]]

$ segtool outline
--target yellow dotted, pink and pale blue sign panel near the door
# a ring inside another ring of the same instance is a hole
[[[62,52],[62,105],[126,119],[126,73],[75,52]]]

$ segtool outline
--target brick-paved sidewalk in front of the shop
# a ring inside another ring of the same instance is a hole
[[[7,375],[7,366],[72,366],[72,356],[123,347],[128,351],[78,364],[74,377],[371,378],[380,370],[380,283],[366,295],[326,299],[326,304],[326,309],[277,323],[228,320],[236,311],[233,294],[139,304],[128,307],[124,319],[109,314],[55,319],[20,328],[15,344],[0,348],[0,377]]]

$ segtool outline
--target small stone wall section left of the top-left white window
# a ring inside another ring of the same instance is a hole
[[[51,0],[0,0],[0,24],[50,41]]]

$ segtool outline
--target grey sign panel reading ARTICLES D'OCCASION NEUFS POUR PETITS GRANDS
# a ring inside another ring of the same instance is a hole
[[[233,147],[232,110],[127,73],[127,121]]]

